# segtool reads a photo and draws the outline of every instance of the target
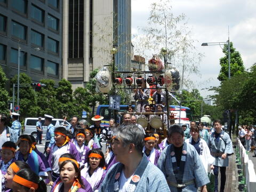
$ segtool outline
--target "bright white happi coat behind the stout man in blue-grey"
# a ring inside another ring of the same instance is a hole
[[[185,142],[188,143],[188,144],[191,144],[191,141],[192,141],[192,137],[185,140]],[[211,165],[214,162],[215,158],[213,156],[211,156],[210,149],[207,146],[207,143],[206,143],[205,140],[200,139],[199,147],[201,148],[199,157],[200,157],[200,159],[201,159],[201,161],[204,165],[204,169],[207,173],[208,172],[208,166]]]

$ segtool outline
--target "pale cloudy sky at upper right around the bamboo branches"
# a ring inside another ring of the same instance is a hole
[[[138,28],[147,25],[150,4],[157,0],[131,2],[132,35],[139,35],[141,32]],[[220,85],[217,79],[220,71],[219,59],[224,54],[220,46],[201,46],[202,43],[226,42],[229,27],[230,42],[233,42],[233,46],[241,54],[245,69],[256,62],[255,0],[172,0],[171,5],[174,15],[186,15],[192,38],[197,40],[194,46],[204,54],[199,63],[202,76],[192,76],[195,88],[204,98],[213,93],[202,89]]]

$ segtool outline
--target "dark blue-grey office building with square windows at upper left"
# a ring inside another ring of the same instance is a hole
[[[0,0],[0,66],[7,78],[62,78],[62,1]]]

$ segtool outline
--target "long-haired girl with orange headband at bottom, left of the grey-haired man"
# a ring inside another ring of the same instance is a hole
[[[71,165],[71,164],[66,165],[66,166],[68,166],[68,169],[69,169],[68,171],[66,171],[66,172],[69,172],[69,173],[66,173],[66,178],[67,179],[63,180],[63,178],[61,178],[61,177],[57,178],[57,180],[54,182],[54,184],[52,186],[51,191],[60,191],[60,190],[62,190],[65,187],[65,185],[62,185],[62,183],[65,184],[65,181],[67,181],[67,180],[70,181],[70,182],[68,182],[70,186],[66,188],[67,191],[69,191],[68,189],[71,187],[71,185],[74,184],[78,180],[80,185],[82,183],[83,186],[84,186],[84,188],[80,191],[92,192],[92,188],[91,188],[90,183],[85,178],[83,178],[81,176],[80,167],[79,167],[79,164],[77,163],[75,157],[71,154],[68,154],[68,153],[63,154],[59,158],[59,167],[62,166],[63,162],[65,162],[65,163],[69,162],[73,165]],[[77,169],[77,165],[78,165],[79,169]],[[63,167],[63,169],[65,169],[65,167]],[[71,172],[70,172],[70,170],[71,170]],[[73,171],[75,171],[75,173],[77,173],[77,175],[75,175],[75,178],[74,178],[74,175],[73,175],[73,173],[74,173]],[[63,175],[64,175],[64,178],[65,178],[65,173],[63,173]],[[78,178],[81,178],[81,179],[79,180]],[[73,181],[73,183],[71,183],[72,181]],[[67,182],[66,182],[66,184],[67,184]],[[58,185],[59,185],[59,187],[57,187]],[[71,191],[73,191],[73,190],[71,190]],[[74,191],[79,191],[79,188],[75,188]]]

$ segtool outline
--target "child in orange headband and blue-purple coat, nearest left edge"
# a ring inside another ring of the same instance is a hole
[[[26,162],[37,175],[47,177],[48,175],[41,157],[32,149],[30,136],[27,134],[20,135],[18,146],[19,151],[15,154],[16,161]]]

